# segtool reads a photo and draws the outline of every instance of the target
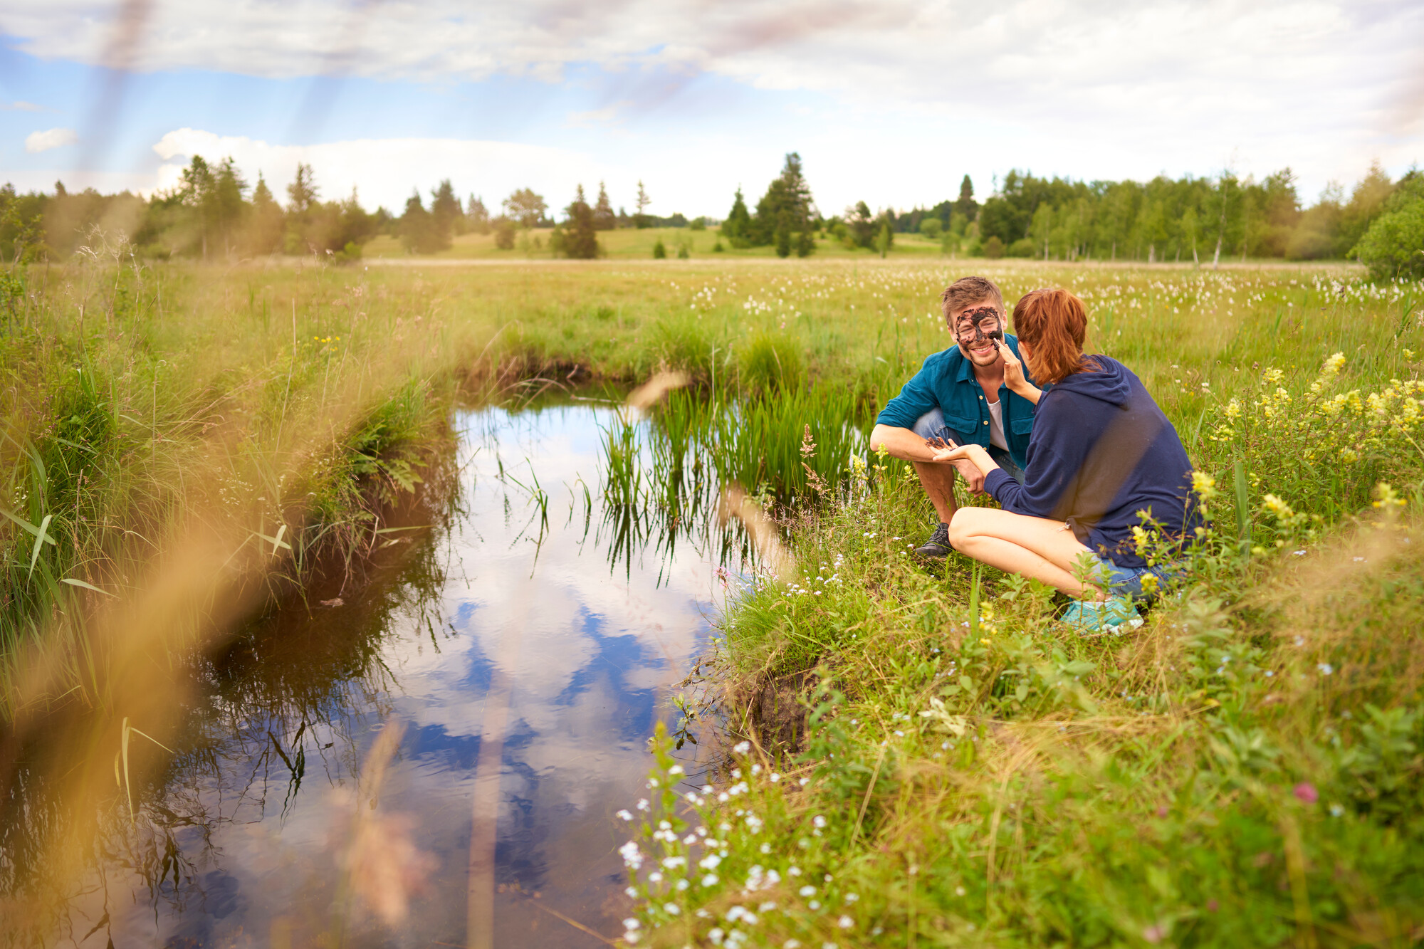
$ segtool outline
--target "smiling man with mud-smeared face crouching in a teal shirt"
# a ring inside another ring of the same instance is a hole
[[[926,439],[980,445],[1022,484],[1024,453],[1034,427],[1034,403],[1004,383],[998,346],[1007,345],[1017,359],[1018,339],[1004,332],[1004,295],[994,281],[985,276],[957,279],[940,295],[940,304],[956,345],[924,361],[900,395],[880,410],[870,433],[871,450],[884,446],[894,457],[914,465],[940,516],[934,534],[916,550],[923,557],[944,557],[954,550],[948,531],[957,510],[956,469],[971,493],[984,490],[978,467],[963,460],[934,462],[936,449],[926,445]]]

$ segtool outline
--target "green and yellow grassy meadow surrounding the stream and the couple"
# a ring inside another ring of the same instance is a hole
[[[973,262],[1008,301],[1078,292],[1089,348],[1205,476],[1190,579],[1132,636],[1082,640],[1042,588],[914,563],[928,504],[863,455],[947,345],[936,296],[968,262],[645,256],[218,268],[120,245],[11,274],[6,779],[44,737],[74,807],[112,805],[130,721],[175,727],[178,657],[359,577],[439,490],[453,405],[672,369],[689,385],[649,427],[609,430],[607,503],[675,503],[696,445],[800,566],[749,579],[688,705],[735,745],[723,774],[679,787],[664,744],[628,802],[628,942],[1417,939],[1424,286]],[[83,727],[54,740],[57,715]]]

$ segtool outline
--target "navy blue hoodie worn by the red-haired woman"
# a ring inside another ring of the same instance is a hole
[[[1099,372],[1075,372],[1040,398],[1024,484],[1000,469],[984,489],[1004,510],[1068,522],[1119,567],[1145,567],[1132,541],[1139,510],[1171,536],[1202,523],[1192,462],[1142,380],[1116,359],[1091,359]]]

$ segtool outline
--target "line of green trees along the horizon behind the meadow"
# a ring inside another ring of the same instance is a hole
[[[1386,244],[1403,241],[1403,249],[1391,251],[1388,259],[1394,264],[1376,269],[1393,266],[1394,274],[1408,274],[1415,265],[1424,269],[1424,252],[1415,255],[1411,244],[1415,215],[1424,221],[1424,207],[1415,208],[1415,198],[1424,202],[1420,172],[1391,181],[1378,164],[1349,194],[1331,184],[1309,207],[1289,168],[1260,181],[1226,171],[1212,178],[1158,177],[1146,182],[1040,178],[1014,170],[995,181],[994,192],[983,202],[964,175],[954,198],[930,207],[871,211],[857,201],[824,217],[812,197],[800,155],[790,152],[755,208],[742,188],[736,190],[713,249],[772,247],[780,256],[807,256],[816,252],[817,241],[832,241],[886,255],[896,235],[918,234],[937,241],[947,254],[985,258],[1198,264],[1223,258],[1339,259],[1383,254],[1384,238],[1366,238],[1371,225],[1386,217],[1393,235]],[[386,208],[367,212],[355,190],[345,198],[323,201],[306,164],[298,165],[279,202],[261,174],[249,185],[232,158],[212,164],[194,157],[175,188],[147,199],[130,192],[70,192],[61,182],[50,194],[19,194],[4,185],[0,255],[6,261],[63,258],[100,228],[122,231],[140,254],[155,258],[325,254],[352,259],[377,234],[399,238],[413,254],[433,254],[470,232],[493,234],[501,249],[524,242],[527,249],[592,258],[602,254],[600,231],[701,229],[709,224],[708,218],[648,214],[651,204],[639,181],[634,214],[615,211],[602,182],[592,201],[578,185],[572,201],[557,211],[533,188],[520,188],[498,208],[488,208],[473,194],[461,201],[447,178],[429,198],[414,191],[399,215]],[[545,237],[531,234],[535,229],[550,231],[547,245]],[[1424,249],[1424,239],[1418,244]]]

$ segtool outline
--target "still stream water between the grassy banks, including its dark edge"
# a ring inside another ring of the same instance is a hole
[[[387,534],[403,554],[389,577],[275,617],[205,670],[140,819],[115,802],[103,872],[70,901],[74,939],[621,935],[615,812],[645,795],[646,738],[676,720],[669,687],[706,644],[718,566],[740,561],[708,523],[712,486],[654,517],[605,507],[612,418],[459,413],[447,526]]]

